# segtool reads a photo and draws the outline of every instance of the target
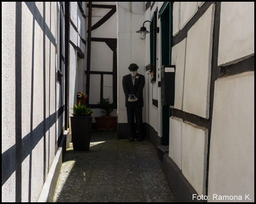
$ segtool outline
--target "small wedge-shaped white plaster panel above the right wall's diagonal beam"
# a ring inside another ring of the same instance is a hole
[[[193,18],[198,10],[198,2],[180,2],[180,30]]]

